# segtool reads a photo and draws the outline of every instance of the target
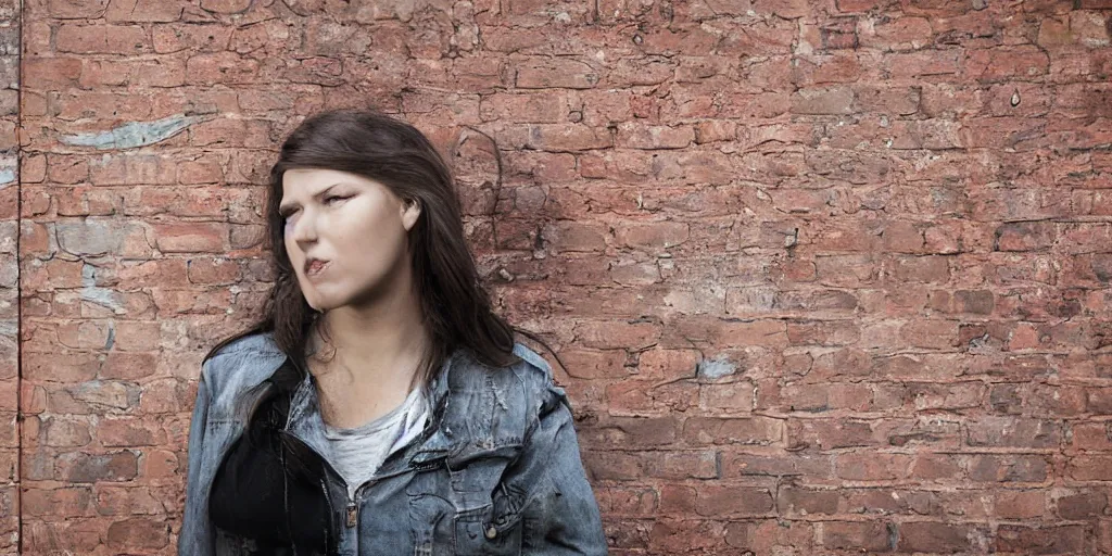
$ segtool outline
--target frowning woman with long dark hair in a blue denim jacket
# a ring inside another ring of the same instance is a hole
[[[270,176],[275,284],[205,357],[179,555],[605,554],[564,390],[492,312],[429,141],[324,112]]]

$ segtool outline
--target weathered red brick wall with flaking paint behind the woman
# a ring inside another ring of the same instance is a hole
[[[1112,552],[1108,0],[22,9],[2,549],[173,552],[277,141],[375,102],[558,346],[613,554]]]

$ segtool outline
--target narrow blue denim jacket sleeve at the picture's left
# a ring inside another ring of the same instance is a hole
[[[202,366],[201,377],[197,384],[197,401],[193,404],[189,421],[186,508],[181,520],[181,533],[178,536],[178,556],[212,556],[215,553],[212,529],[208,519],[206,485],[200,484],[208,409],[209,389]]]

